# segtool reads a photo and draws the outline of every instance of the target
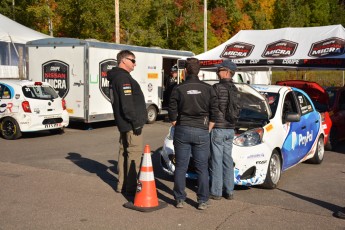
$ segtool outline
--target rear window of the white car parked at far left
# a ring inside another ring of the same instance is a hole
[[[58,98],[57,92],[48,85],[23,86],[24,96],[32,99],[52,100]]]

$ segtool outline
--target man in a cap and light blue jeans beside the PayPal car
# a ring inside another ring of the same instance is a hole
[[[232,200],[234,195],[234,162],[232,159],[232,141],[234,139],[234,122],[225,118],[229,103],[229,90],[236,90],[232,77],[236,64],[229,60],[217,66],[219,83],[213,88],[218,98],[218,113],[216,123],[211,132],[211,189],[210,198],[220,200],[222,196]]]

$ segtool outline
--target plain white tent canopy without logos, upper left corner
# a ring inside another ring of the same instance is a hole
[[[50,36],[25,27],[0,14],[0,41],[25,44],[28,41],[42,38],[50,38]]]

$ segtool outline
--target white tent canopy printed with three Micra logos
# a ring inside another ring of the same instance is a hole
[[[330,25],[241,30],[195,57],[203,68],[231,59],[242,70],[345,69],[345,29]]]

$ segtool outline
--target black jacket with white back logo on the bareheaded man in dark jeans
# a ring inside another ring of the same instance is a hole
[[[208,129],[215,121],[217,96],[209,84],[197,76],[187,76],[186,81],[174,87],[169,100],[169,119],[176,125]]]

